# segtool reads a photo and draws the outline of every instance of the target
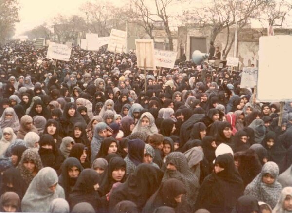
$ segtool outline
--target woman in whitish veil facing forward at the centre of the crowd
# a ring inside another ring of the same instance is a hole
[[[132,133],[135,132],[146,132],[149,135],[153,135],[154,133],[158,133],[158,129],[155,125],[155,119],[154,117],[146,112],[143,113],[137,123],[137,125],[134,127]]]

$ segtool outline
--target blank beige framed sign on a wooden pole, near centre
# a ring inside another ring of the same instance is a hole
[[[136,39],[136,55],[138,68],[144,69],[144,59],[146,59],[146,70],[156,69],[153,39]]]

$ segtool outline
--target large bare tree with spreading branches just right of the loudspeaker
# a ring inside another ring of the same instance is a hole
[[[259,19],[269,2],[270,0],[213,0],[210,4],[204,4],[204,7],[183,11],[183,16],[179,19],[201,30],[211,28],[210,40],[213,42],[226,29],[226,45],[222,51],[223,58],[226,58],[235,40],[230,27],[237,23],[240,30],[251,19]]]

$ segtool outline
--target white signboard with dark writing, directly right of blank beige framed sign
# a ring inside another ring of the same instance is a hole
[[[154,49],[154,60],[157,67],[172,69],[178,52]]]

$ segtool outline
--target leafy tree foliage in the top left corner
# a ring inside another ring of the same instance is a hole
[[[20,21],[18,11],[17,0],[0,0],[0,40],[14,35],[14,24]]]

